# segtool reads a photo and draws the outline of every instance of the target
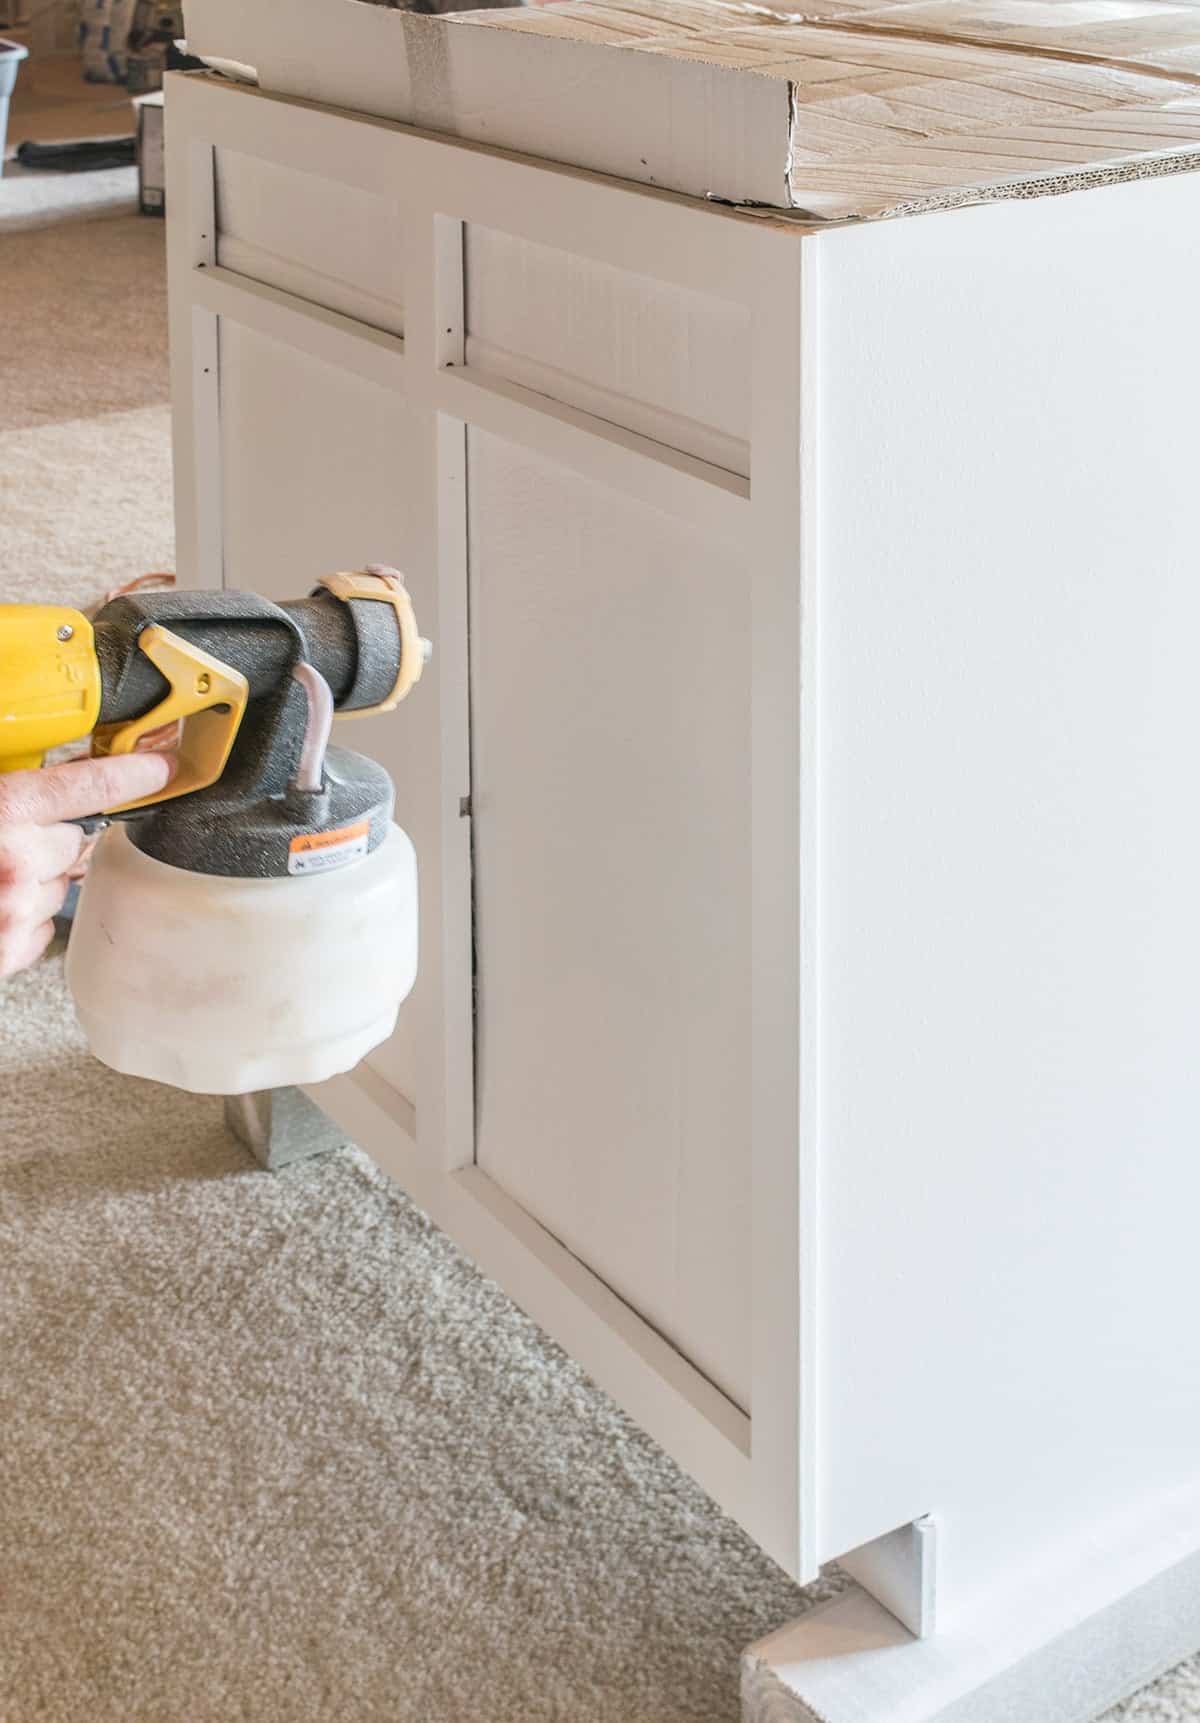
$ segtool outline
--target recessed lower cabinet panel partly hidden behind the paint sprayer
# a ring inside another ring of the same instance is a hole
[[[403,401],[295,346],[221,322],[221,460],[226,584],[302,598],[322,574],[405,567]],[[397,820],[421,841],[429,765],[407,710],[336,722],[336,746],[374,755],[397,786]],[[424,930],[422,930],[424,937]],[[421,975],[372,1067],[417,1104]]]

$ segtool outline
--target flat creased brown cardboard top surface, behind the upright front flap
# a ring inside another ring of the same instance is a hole
[[[821,221],[1200,165],[1197,3],[805,0],[783,12],[721,0],[566,0],[459,14],[457,26],[786,84],[778,202]]]

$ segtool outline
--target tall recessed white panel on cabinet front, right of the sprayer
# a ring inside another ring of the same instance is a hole
[[[469,438],[483,1170],[750,1397],[736,557]]]

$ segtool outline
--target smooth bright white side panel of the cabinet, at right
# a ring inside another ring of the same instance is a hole
[[[822,236],[822,1556],[1200,1473],[1200,177]],[[812,243],[812,241],[805,241]]]

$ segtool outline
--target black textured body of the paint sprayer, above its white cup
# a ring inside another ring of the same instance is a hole
[[[391,601],[379,603],[384,579]],[[271,879],[348,858],[338,843],[345,832],[355,834],[357,855],[383,843],[393,803],[388,774],[362,755],[326,748],[328,708],[386,710],[400,682],[419,675],[409,658],[426,648],[405,629],[400,598],[407,606],[398,577],[372,570],[334,575],[309,598],[281,605],[226,591],[131,594],[105,605],[95,617],[97,736],[164,708],[172,681],[145,650],[164,631],[243,681],[241,717],[229,718],[236,734],[216,782],[116,815],[129,822],[136,848],[190,872]],[[197,686],[203,679],[198,670]],[[207,717],[222,713],[229,703],[214,703]]]

